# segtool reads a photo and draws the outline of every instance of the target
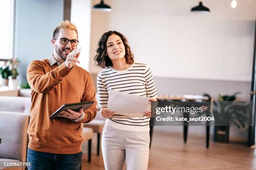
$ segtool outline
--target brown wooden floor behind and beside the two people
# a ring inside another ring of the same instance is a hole
[[[92,140],[91,163],[87,143],[83,145],[82,170],[104,170],[102,153],[96,155],[96,134]],[[184,144],[181,134],[154,131],[148,170],[256,170],[256,150],[241,143],[212,141],[206,149],[202,137],[189,135]]]

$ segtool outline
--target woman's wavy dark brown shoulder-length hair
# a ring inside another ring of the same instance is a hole
[[[98,42],[98,48],[96,50],[96,55],[94,57],[95,65],[105,68],[109,66],[113,66],[112,61],[107,55],[106,49],[107,49],[107,40],[108,37],[112,34],[118,35],[121,40],[123,41],[123,44],[125,46],[125,60],[127,64],[133,64],[133,53],[131,52],[131,48],[127,43],[126,37],[117,31],[108,31],[105,32],[102,37],[100,38],[100,41]]]

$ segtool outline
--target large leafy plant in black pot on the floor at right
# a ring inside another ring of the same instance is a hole
[[[235,101],[236,92],[233,95],[220,95],[218,100],[213,102],[214,115],[214,141],[215,142],[229,142],[229,128],[232,123],[238,129],[244,128],[247,121],[246,114],[249,111],[248,104],[243,101]],[[210,95],[205,94],[210,97]]]

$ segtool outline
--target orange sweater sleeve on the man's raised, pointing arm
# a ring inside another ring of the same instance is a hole
[[[65,63],[62,63],[59,67],[45,73],[41,61],[34,60],[28,65],[28,84],[38,93],[47,93],[61,83],[63,78],[68,75],[70,71],[71,70],[65,66]]]

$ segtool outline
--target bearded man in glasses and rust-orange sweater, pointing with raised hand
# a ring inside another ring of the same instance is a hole
[[[54,54],[32,61],[27,70],[31,86],[31,120],[28,126],[29,170],[79,170],[83,138],[81,123],[96,115],[96,102],[86,110],[67,110],[51,119],[61,105],[95,101],[90,73],[77,66],[77,28],[62,21],[53,33]]]

